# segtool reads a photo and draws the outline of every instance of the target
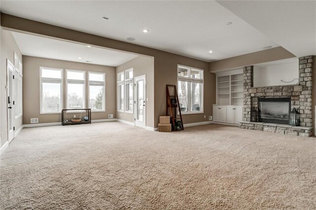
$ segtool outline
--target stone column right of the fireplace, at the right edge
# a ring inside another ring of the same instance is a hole
[[[300,85],[303,86],[300,95],[300,125],[313,126],[313,56],[300,58],[299,66]]]

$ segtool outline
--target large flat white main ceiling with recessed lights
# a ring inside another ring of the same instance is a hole
[[[214,0],[11,0],[1,12],[207,62],[279,46]]]

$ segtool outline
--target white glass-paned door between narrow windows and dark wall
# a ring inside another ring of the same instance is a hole
[[[135,77],[135,126],[146,127],[146,75]]]

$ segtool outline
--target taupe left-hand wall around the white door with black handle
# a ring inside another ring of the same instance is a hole
[[[17,56],[22,61],[22,54],[20,52],[19,47],[17,46],[13,35],[11,32],[2,30],[1,28],[1,70],[0,70],[0,80],[1,80],[1,132],[3,133],[3,138],[0,142],[0,147],[8,140],[7,137],[7,101],[6,101],[6,79],[7,79],[7,70],[6,70],[6,59],[8,59],[12,65],[14,65],[14,52],[16,52]],[[5,99],[5,100],[4,100]],[[14,116],[13,116],[14,118]],[[15,118],[14,118],[15,119]],[[17,131],[22,126],[22,117],[15,119],[14,127],[15,131]]]

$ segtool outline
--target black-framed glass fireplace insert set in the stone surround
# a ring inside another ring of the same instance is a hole
[[[290,98],[259,98],[259,122],[289,124]]]

